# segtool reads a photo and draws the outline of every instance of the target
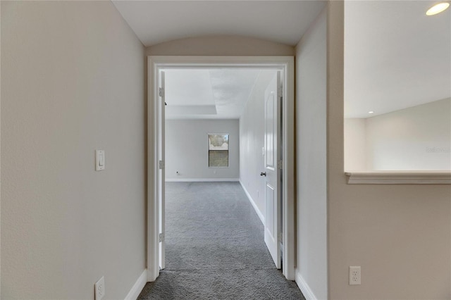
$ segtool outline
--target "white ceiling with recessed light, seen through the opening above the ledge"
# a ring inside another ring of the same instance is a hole
[[[345,117],[451,96],[451,10],[427,16],[436,2],[345,3]]]

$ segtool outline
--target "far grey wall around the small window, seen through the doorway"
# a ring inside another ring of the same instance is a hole
[[[238,126],[238,120],[166,120],[166,180],[237,180],[240,173]],[[228,168],[209,168],[209,133],[230,135]]]

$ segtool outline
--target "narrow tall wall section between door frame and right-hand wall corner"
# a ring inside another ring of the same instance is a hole
[[[324,9],[296,49],[297,282],[327,298],[326,25]]]

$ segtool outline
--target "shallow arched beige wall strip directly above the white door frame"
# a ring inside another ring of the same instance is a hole
[[[293,56],[295,48],[249,37],[191,37],[147,47],[154,56]]]

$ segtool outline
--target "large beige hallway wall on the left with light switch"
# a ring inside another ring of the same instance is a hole
[[[1,1],[1,299],[145,268],[145,49],[109,1]],[[94,149],[106,170],[94,171]]]

